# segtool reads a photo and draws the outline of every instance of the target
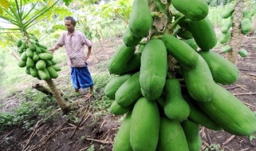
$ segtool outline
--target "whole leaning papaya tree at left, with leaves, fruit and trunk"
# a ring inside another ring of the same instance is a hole
[[[39,60],[38,58],[34,59],[34,54],[40,56],[40,53],[37,50],[35,53],[35,50],[34,50],[34,53],[32,54],[33,59],[31,59],[30,56],[28,55],[29,54],[28,49],[37,47],[37,48],[39,48],[39,51],[41,50],[41,51],[45,51],[45,53],[48,53],[47,50],[45,50],[46,48],[40,44],[39,40],[34,36],[34,34],[28,32],[28,29],[30,27],[34,26],[37,22],[42,21],[43,19],[47,18],[48,15],[51,14],[50,9],[53,8],[57,2],[59,2],[59,0],[57,0],[56,2],[50,0],[50,1],[48,1],[47,4],[40,2],[39,0],[38,1],[32,1],[32,0],[31,1],[22,1],[21,0],[20,2],[18,2],[18,0],[15,0],[15,2],[1,1],[2,7],[0,7],[0,8],[3,11],[0,12],[1,13],[0,18],[5,20],[6,23],[13,25],[13,27],[0,28],[0,30],[5,30],[5,31],[7,31],[7,33],[14,33],[17,31],[20,32],[20,35],[17,35],[17,36],[21,37],[22,40],[21,39],[17,40],[17,46],[20,47],[18,53],[20,54],[21,57],[22,57],[21,54],[26,53],[25,54],[26,62],[21,59],[21,63],[19,62],[19,66],[20,67],[27,66],[26,72],[28,74],[31,72],[31,68],[35,69],[35,64],[36,64],[35,62],[36,62],[36,60],[37,61]],[[69,1],[66,1],[66,2],[69,2]],[[38,7],[39,4],[42,4],[43,7],[42,8]],[[28,10],[26,10],[25,8],[27,8]],[[2,32],[2,33],[4,33],[4,32]],[[14,38],[12,38],[11,40],[14,41]],[[22,45],[21,43],[24,44],[24,47],[21,46]],[[21,49],[22,47],[23,47],[23,50]],[[26,48],[26,50],[25,50],[25,48]],[[48,56],[51,56],[51,55],[50,55],[50,53],[48,53]],[[40,59],[41,59],[41,57],[40,57]],[[28,61],[28,60],[30,60],[30,61]],[[49,59],[49,60],[51,60],[51,59]],[[25,66],[24,66],[24,62],[25,62]],[[28,62],[29,62],[29,64],[28,64]],[[33,77],[37,77],[38,79],[43,79],[46,81],[46,83],[48,84],[49,88],[52,91],[53,96],[56,98],[57,103],[61,107],[62,112],[64,114],[67,114],[70,111],[70,107],[64,101],[60,92],[57,90],[55,84],[53,83],[52,78],[57,78],[57,75],[56,75],[57,72],[55,71],[55,69],[53,69],[54,71],[52,71],[52,72],[54,72],[54,73],[56,72],[55,76],[53,77],[50,73],[50,70],[48,70],[48,68],[50,68],[50,67],[51,66],[49,65],[47,67],[47,69],[44,68],[43,71],[35,69],[34,70],[36,72],[34,74],[35,76],[33,76],[32,73],[30,73],[30,74]],[[45,74],[43,74],[43,73],[45,73]],[[46,73],[48,73],[48,75],[51,75],[51,77],[45,77]]]

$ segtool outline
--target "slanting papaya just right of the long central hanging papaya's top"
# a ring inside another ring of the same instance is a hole
[[[186,42],[170,35],[162,36],[167,53],[173,56],[179,63],[187,67],[194,67],[198,61],[198,54]]]

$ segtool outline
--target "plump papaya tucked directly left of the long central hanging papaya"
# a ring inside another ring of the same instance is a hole
[[[139,84],[140,72],[134,73],[116,91],[115,100],[122,107],[133,104],[142,96]]]

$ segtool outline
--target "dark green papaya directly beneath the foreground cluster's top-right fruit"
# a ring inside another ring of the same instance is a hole
[[[198,47],[202,50],[208,51],[217,44],[213,24],[211,24],[208,18],[199,21],[190,21],[189,31],[192,33]]]

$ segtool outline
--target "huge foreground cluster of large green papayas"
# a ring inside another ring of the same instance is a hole
[[[179,20],[175,32],[159,33],[160,39],[141,44],[156,19],[150,15],[149,2],[133,2],[123,44],[108,62],[108,71],[115,74],[105,87],[105,95],[114,100],[110,112],[126,114],[113,150],[200,150],[200,125],[233,135],[254,133],[255,113],[220,85],[236,82],[239,71],[210,50],[217,38],[206,18],[205,1],[172,0]],[[170,5],[153,2],[160,10]],[[181,36],[184,31],[190,36]],[[175,71],[168,70],[170,57],[178,66]],[[167,76],[168,72],[175,76]]]

